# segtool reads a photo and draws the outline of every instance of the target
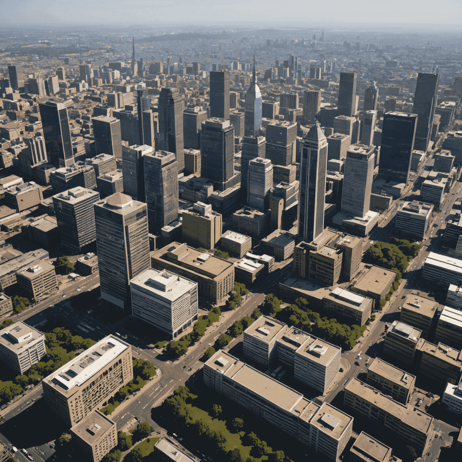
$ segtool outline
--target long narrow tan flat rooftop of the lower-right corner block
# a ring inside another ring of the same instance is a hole
[[[389,396],[380,393],[371,385],[361,382],[353,377],[346,385],[345,390],[350,391],[354,395],[358,395],[365,401],[374,403],[374,405],[385,412],[400,419],[405,424],[411,426],[415,430],[422,433],[428,433],[433,429],[433,417],[426,412],[421,411],[418,407],[410,405],[406,407],[404,404],[393,400]]]

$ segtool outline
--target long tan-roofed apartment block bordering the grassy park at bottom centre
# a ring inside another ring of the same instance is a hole
[[[350,439],[353,417],[307,400],[222,350],[205,363],[204,383],[332,461],[340,460]]]

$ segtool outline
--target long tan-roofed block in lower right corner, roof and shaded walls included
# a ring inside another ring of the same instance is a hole
[[[413,446],[418,455],[425,453],[433,438],[431,415],[415,407],[407,408],[357,378],[345,386],[344,405]]]

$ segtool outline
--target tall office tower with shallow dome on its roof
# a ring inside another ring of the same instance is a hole
[[[147,206],[116,193],[94,207],[101,298],[128,309],[130,280],[151,267]]]

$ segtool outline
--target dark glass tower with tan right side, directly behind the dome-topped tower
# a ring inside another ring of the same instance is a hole
[[[173,152],[149,152],[143,156],[149,230],[161,229],[178,219],[178,163]]]

